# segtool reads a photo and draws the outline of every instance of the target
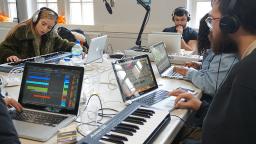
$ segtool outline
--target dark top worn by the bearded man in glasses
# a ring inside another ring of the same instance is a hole
[[[203,144],[251,144],[256,133],[256,50],[238,62],[219,88],[203,123]]]

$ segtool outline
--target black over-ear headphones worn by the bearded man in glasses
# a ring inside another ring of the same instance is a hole
[[[223,33],[234,33],[240,27],[239,18],[233,14],[237,0],[230,0],[227,8],[227,14],[220,19],[220,29]]]

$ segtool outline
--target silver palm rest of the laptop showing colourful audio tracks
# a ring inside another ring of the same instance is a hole
[[[47,141],[57,132],[57,127],[33,124],[13,120],[13,124],[17,130],[18,136],[38,141]]]

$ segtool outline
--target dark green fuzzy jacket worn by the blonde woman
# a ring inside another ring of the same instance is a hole
[[[23,22],[13,34],[8,35],[0,44],[0,63],[12,55],[21,59],[48,54],[56,51],[70,51],[74,43],[63,40],[52,30],[41,37],[41,45],[36,42],[32,22]]]

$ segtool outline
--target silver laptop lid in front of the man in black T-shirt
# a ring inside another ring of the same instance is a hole
[[[154,32],[148,34],[148,46],[164,42],[168,54],[181,52],[181,35],[172,32]]]

